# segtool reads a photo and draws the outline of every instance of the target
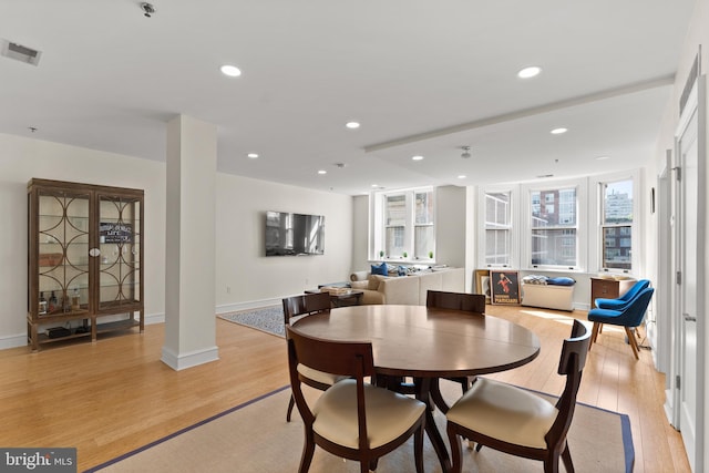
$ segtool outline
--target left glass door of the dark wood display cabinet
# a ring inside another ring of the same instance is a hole
[[[88,312],[89,197],[39,193],[39,317]]]

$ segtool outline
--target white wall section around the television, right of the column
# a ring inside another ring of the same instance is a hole
[[[216,200],[219,312],[280,302],[319,284],[349,280],[352,197],[218,174]],[[267,210],[325,215],[325,255],[266,257]]]

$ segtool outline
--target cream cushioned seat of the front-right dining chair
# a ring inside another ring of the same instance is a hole
[[[479,378],[445,417],[493,439],[546,449],[544,435],[557,414],[554,404],[530,391]]]

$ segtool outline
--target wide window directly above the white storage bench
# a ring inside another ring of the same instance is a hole
[[[578,266],[576,187],[532,191],[530,200],[532,266]]]

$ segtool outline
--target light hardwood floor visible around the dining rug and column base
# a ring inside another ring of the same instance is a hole
[[[487,313],[530,328],[542,342],[532,363],[494,377],[561,392],[556,368],[569,313],[503,306],[487,306]],[[585,312],[573,316],[584,319]],[[83,471],[288,382],[281,338],[217,319],[220,359],[173,371],[160,361],[163,331],[147,326],[142,336],[39,353],[1,350],[0,445],[76,446]],[[689,471],[662,410],[664,383],[651,353],[641,350],[636,361],[624,333],[606,326],[589,352],[578,401],[630,417],[635,472]]]

